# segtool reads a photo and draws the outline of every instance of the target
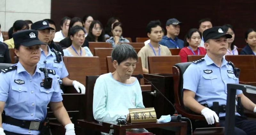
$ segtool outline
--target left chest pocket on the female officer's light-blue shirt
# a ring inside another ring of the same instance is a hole
[[[12,93],[9,97],[17,104],[25,103],[28,100],[28,89],[24,86],[12,86]]]

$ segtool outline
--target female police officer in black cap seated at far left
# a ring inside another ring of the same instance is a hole
[[[55,71],[39,68],[40,45],[36,30],[13,34],[14,52],[19,62],[0,73],[1,135],[40,134],[50,103],[66,135],[75,135],[74,124],[62,104],[60,85]]]

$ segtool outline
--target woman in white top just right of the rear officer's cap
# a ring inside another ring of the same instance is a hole
[[[63,17],[60,20],[61,30],[55,33],[55,36],[54,36],[54,39],[53,39],[54,42],[60,42],[62,39],[68,37],[69,23],[70,23],[70,18],[69,17]]]

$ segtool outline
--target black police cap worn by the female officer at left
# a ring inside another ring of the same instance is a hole
[[[23,45],[23,46],[34,46],[38,44],[45,44],[38,39],[37,30],[21,30],[12,34],[14,40],[14,46]]]

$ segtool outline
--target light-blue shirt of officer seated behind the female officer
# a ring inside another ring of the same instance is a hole
[[[68,70],[67,70],[63,60],[58,62],[56,60],[55,53],[50,50],[48,45],[47,45],[47,48],[48,48],[47,56],[45,56],[44,51],[41,49],[41,57],[38,62],[38,66],[39,66],[39,68],[53,69],[56,72],[55,76],[57,77],[58,82],[60,84],[62,84],[61,79],[68,76]],[[44,63],[44,61],[46,61],[46,63]]]

